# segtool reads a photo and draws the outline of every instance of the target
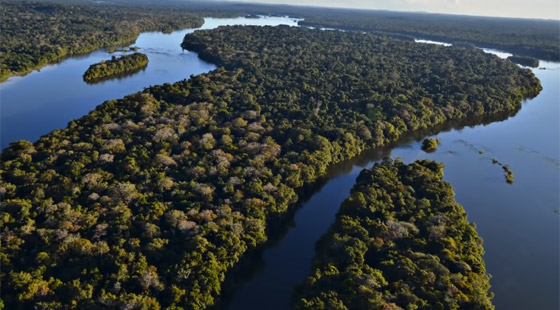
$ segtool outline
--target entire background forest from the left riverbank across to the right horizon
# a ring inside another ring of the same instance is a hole
[[[544,60],[560,59],[560,22],[388,11],[299,8],[201,1],[0,3],[0,81],[101,47],[131,43],[141,31],[198,27],[201,17],[290,15],[302,25],[359,30],[493,47]]]

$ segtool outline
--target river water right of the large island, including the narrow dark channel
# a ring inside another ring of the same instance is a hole
[[[391,156],[407,163],[444,163],[444,179],[455,187],[457,201],[484,239],[496,309],[560,309],[560,214],[555,213],[560,208],[560,64],[542,61],[541,68],[546,70],[533,72],[543,91],[505,121],[441,132],[440,147],[432,154],[421,150],[421,140],[413,140],[332,167],[330,181],[302,204],[280,241],[254,259],[255,267],[222,308],[289,309],[294,287],[312,272],[316,242],[359,171]],[[493,158],[510,166],[513,184],[506,183]]]

